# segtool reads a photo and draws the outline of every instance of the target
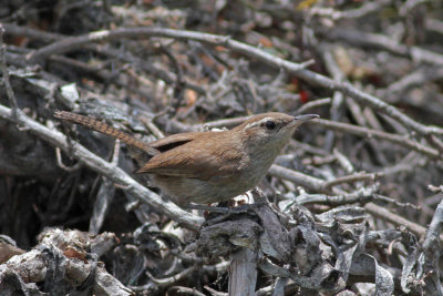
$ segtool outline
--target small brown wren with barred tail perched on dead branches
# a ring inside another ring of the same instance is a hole
[[[264,113],[223,132],[190,132],[144,143],[95,119],[71,112],[55,118],[85,125],[147,152],[136,173],[147,173],[179,205],[229,200],[258,184],[301,123],[316,114]]]

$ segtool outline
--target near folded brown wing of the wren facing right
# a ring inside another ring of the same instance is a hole
[[[214,141],[199,137],[198,144],[182,144],[155,155],[136,173],[190,177],[205,181],[223,181],[238,176],[245,155],[231,145],[214,147]],[[223,141],[222,141],[223,143]]]

